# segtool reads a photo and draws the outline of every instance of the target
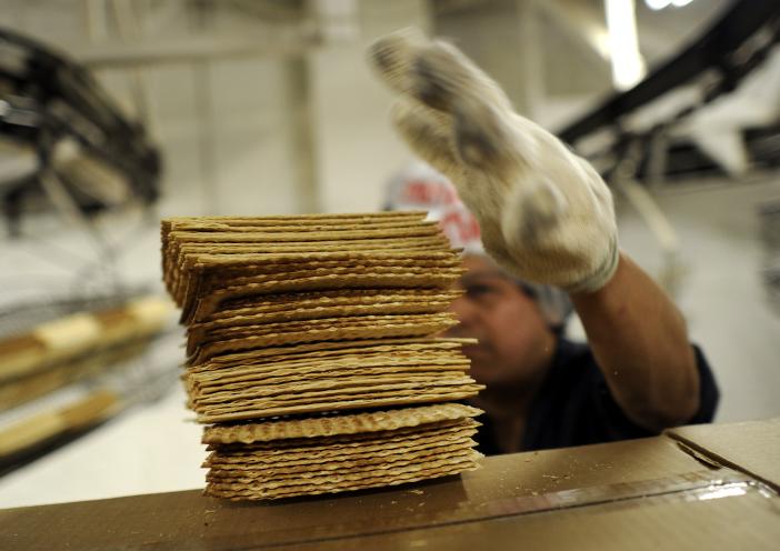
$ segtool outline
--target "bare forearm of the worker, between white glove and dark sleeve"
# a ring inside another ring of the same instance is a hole
[[[699,377],[682,314],[633,261],[572,295],[593,354],[621,409],[650,430],[687,422],[699,407]]]

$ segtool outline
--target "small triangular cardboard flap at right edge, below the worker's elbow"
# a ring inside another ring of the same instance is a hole
[[[780,418],[680,427],[667,435],[780,490]]]

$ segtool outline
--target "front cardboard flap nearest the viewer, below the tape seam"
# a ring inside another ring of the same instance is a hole
[[[318,550],[577,549],[603,551],[776,550],[778,499],[759,491],[720,499],[661,494],[424,530],[284,547]]]

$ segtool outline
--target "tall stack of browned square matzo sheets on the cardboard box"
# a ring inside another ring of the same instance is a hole
[[[448,304],[458,251],[424,213],[177,218],[163,279],[188,327],[207,493],[272,499],[473,469],[481,387]],[[449,403],[448,403],[449,402]],[[357,411],[356,411],[357,410]],[[379,411],[381,410],[381,411]]]

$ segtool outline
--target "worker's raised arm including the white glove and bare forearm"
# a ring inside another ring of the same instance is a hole
[[[600,174],[511,102],[453,44],[414,31],[379,39],[374,68],[399,93],[394,122],[450,178],[486,251],[523,281],[572,297],[614,398],[659,430],[696,413],[699,380],[674,305],[619,253]]]

